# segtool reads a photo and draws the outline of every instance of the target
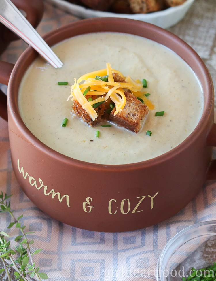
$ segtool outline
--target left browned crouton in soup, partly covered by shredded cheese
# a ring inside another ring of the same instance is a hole
[[[98,98],[96,95],[86,95],[86,99],[88,100],[90,97],[94,100]],[[73,113],[78,116],[80,119],[82,119],[85,123],[87,123],[89,126],[95,126],[100,122],[103,122],[105,120],[105,114],[106,114],[106,106],[104,103],[99,105],[97,108],[94,108],[94,110],[97,112],[98,117],[92,121],[92,118],[89,116],[89,114],[82,108],[82,105],[78,101],[73,101]],[[104,117],[104,118],[103,118]]]

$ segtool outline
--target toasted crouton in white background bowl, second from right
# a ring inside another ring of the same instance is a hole
[[[149,13],[162,10],[164,8],[163,0],[129,0],[131,10],[134,13]]]

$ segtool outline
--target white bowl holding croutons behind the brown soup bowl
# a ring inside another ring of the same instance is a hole
[[[65,0],[46,0],[59,7],[60,9],[73,14],[78,18],[95,18],[95,17],[117,17],[131,18],[134,20],[142,20],[155,24],[162,28],[169,28],[179,22],[186,14],[194,0],[187,0],[182,5],[171,7],[166,10],[153,12],[149,14],[118,14],[112,12],[103,12],[75,5]]]

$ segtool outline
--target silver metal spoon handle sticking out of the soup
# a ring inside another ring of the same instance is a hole
[[[0,22],[34,48],[53,67],[63,63],[10,0],[0,0]]]

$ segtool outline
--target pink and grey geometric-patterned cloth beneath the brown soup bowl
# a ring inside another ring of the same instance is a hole
[[[46,4],[38,31],[44,34],[75,20],[78,19]],[[170,31],[198,52],[216,84],[215,0],[196,0],[184,20]],[[1,59],[14,63],[26,46],[22,41],[11,43]],[[208,182],[181,212],[146,229],[99,233],[53,220],[31,203],[18,185],[10,160],[7,122],[2,119],[0,190],[13,194],[11,205],[14,214],[24,214],[21,220],[27,226],[26,231],[35,231],[35,234],[29,235],[35,241],[33,247],[43,248],[43,252],[35,256],[35,261],[51,281],[155,280],[158,256],[168,240],[189,225],[216,219],[216,184]],[[10,216],[0,216],[3,230],[9,223]],[[15,237],[16,230],[12,229],[10,235]]]

